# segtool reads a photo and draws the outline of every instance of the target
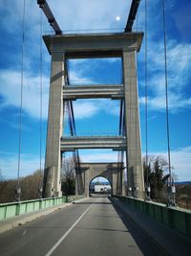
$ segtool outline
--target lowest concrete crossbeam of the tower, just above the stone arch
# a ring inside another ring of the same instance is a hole
[[[85,149],[112,149],[114,151],[125,151],[126,138],[124,136],[75,136],[61,138],[60,151]]]

